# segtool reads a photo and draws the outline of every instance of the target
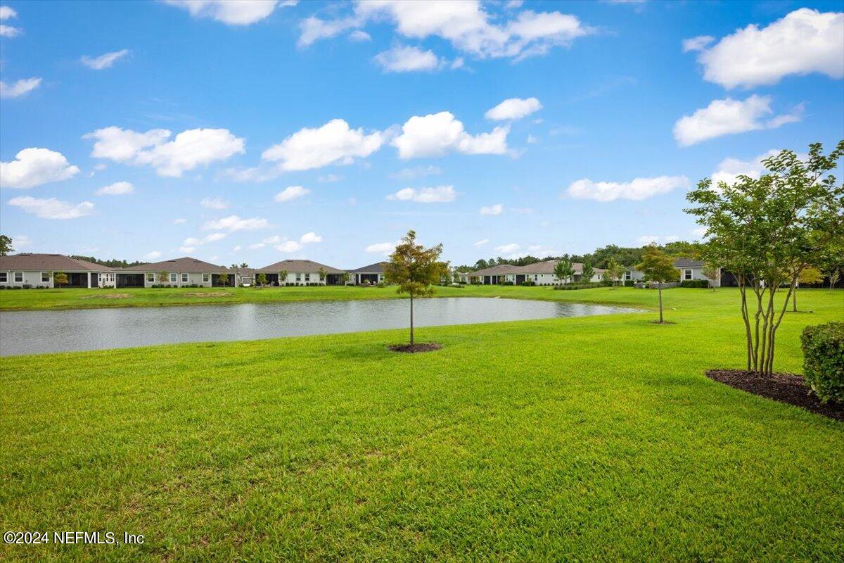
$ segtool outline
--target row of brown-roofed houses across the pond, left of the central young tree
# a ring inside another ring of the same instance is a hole
[[[63,254],[21,253],[0,257],[0,286],[55,287],[55,273],[68,277],[64,287],[176,287],[217,285],[252,285],[262,273],[268,285],[343,285],[377,284],[384,280],[384,265],[379,262],[342,270],[311,260],[282,260],[264,268],[226,268],[192,257],[139,264],[128,268],[109,268]],[[346,281],[348,279],[348,282]]]

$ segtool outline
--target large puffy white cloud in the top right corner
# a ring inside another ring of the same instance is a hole
[[[844,13],[800,8],[767,27],[750,24],[701,49],[703,77],[725,88],[776,84],[792,74],[844,77]]]

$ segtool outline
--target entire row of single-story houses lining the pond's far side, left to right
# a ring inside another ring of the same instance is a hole
[[[571,279],[557,279],[554,268],[557,260],[546,260],[527,266],[500,264],[474,272],[457,273],[463,283],[555,285],[599,282],[606,272],[594,268],[591,279],[583,279],[583,264],[572,263]],[[363,268],[343,270],[311,260],[282,260],[264,268],[225,268],[192,257],[175,258],[156,263],[140,264],[128,268],[109,268],[85,262],[62,254],[21,253],[0,257],[0,285],[5,287],[54,287],[53,273],[62,272],[68,277],[66,287],[152,287],[154,285],[202,286],[253,285],[262,273],[268,285],[343,285],[377,284],[384,281],[385,262],[369,264]],[[674,262],[679,281],[707,279],[704,263],[679,258]],[[286,273],[286,275],[285,275]],[[625,270],[625,281],[639,282],[644,275],[635,268]],[[224,280],[225,278],[225,280]],[[721,280],[716,280],[720,285]]]

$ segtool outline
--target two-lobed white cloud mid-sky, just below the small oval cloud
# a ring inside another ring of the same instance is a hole
[[[402,159],[439,156],[448,152],[463,154],[504,154],[509,127],[495,127],[490,133],[470,135],[450,111],[413,116],[392,139]]]

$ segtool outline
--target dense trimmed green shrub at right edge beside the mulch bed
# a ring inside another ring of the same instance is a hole
[[[803,371],[821,403],[844,403],[844,322],[806,327],[803,344]]]

